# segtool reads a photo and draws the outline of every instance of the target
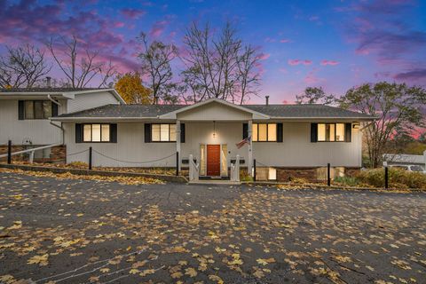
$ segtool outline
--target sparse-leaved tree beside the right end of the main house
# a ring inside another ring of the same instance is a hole
[[[351,88],[339,102],[343,108],[376,117],[364,130],[372,167],[380,165],[386,142],[396,133],[409,134],[415,127],[425,126],[419,107],[426,103],[426,90],[422,87],[408,87],[405,83],[365,83]]]

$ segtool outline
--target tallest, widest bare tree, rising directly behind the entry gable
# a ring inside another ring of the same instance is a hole
[[[243,103],[256,94],[260,75],[259,56],[251,46],[243,46],[230,22],[213,35],[207,23],[186,29],[183,83],[193,102],[218,98]]]

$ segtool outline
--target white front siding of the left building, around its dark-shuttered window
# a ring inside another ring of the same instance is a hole
[[[63,101],[60,103],[62,104]],[[61,108],[59,107],[59,114],[62,113]],[[7,144],[9,139],[14,145],[26,144],[27,140],[33,145],[61,142],[61,131],[49,122],[47,119],[20,121],[18,99],[2,99],[0,100],[0,145]]]

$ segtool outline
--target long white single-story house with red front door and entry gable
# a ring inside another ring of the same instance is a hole
[[[91,147],[94,166],[181,170],[192,155],[200,176],[228,177],[238,156],[241,167],[252,169],[256,160],[257,167],[273,169],[269,179],[279,180],[318,177],[327,163],[359,170],[360,124],[371,120],[332,106],[239,106],[220,99],[191,106],[114,104],[51,118],[62,125],[67,162],[88,162]],[[244,138],[248,143],[239,148]]]

